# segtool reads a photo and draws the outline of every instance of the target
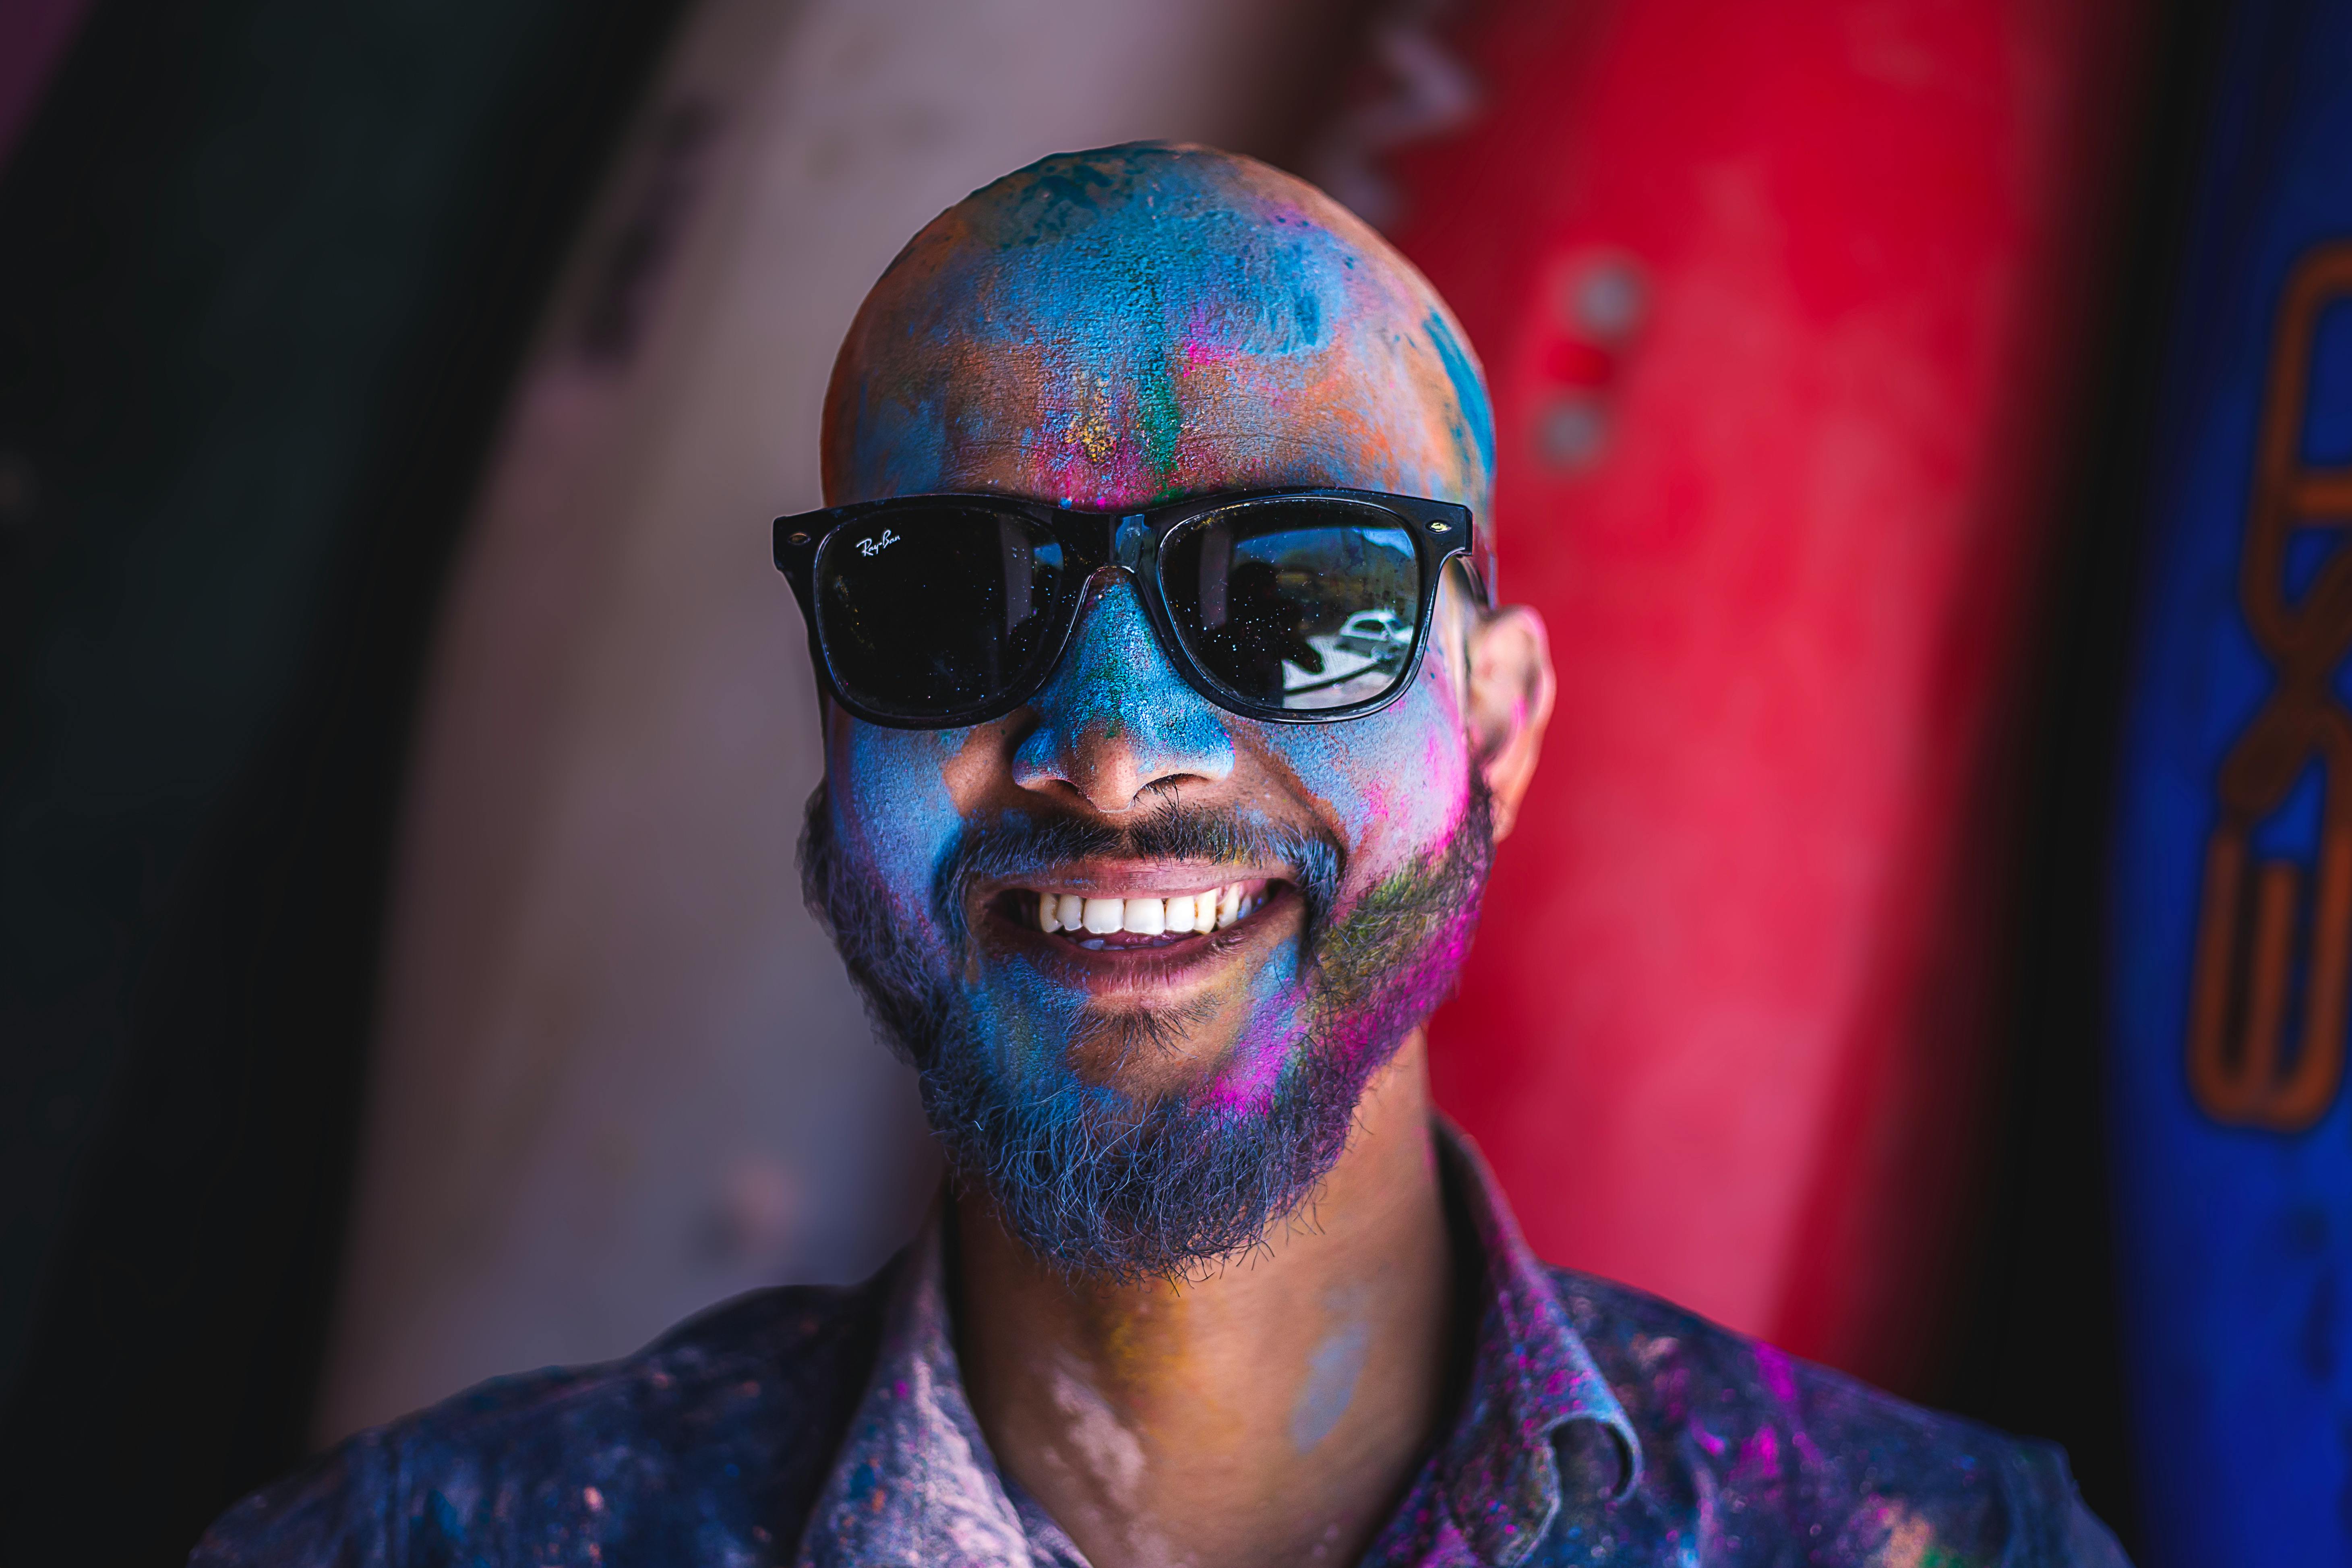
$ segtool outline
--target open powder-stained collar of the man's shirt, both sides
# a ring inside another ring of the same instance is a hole
[[[1486,1267],[1470,1380],[1425,1481],[1463,1544],[1484,1563],[1508,1566],[1559,1514],[1555,1441],[1564,1427],[1588,1422],[1611,1439],[1618,1497],[1639,1479],[1642,1446],[1484,1159],[1444,1119],[1437,1147],[1454,1211],[1468,1218]],[[948,1324],[943,1213],[934,1206],[896,1265],[875,1371],[809,1514],[800,1563],[1037,1568],[1061,1559],[1040,1544],[1023,1530],[964,1396]]]

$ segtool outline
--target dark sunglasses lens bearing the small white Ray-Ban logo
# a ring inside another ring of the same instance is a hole
[[[891,510],[816,557],[816,637],[844,696],[950,722],[1033,675],[1070,578],[1051,534],[983,505]]]

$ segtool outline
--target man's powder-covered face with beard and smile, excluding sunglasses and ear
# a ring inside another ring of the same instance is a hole
[[[1014,176],[917,237],[844,348],[835,501],[1484,503],[1475,371],[1418,277],[1352,277],[1392,268],[1385,249],[1256,165],[1127,158],[1148,179],[1122,165],[1075,216]],[[1223,244],[1197,214],[1171,226],[1185,200]],[[1181,1269],[1251,1244],[1338,1157],[1364,1081],[1451,985],[1484,884],[1470,614],[1449,590],[1390,708],[1270,724],[1178,679],[1105,569],[1025,708],[950,731],[833,712],[811,898],[957,1164],[1035,1248]],[[1080,929],[1047,931],[1044,900]]]

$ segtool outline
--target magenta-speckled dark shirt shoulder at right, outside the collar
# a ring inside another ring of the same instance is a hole
[[[1717,1537],[1700,1561],[2122,1568],[2053,1443],[1926,1410],[1644,1291],[1550,1269],[1642,1441],[1642,1500]],[[1943,1556],[1938,1556],[1938,1552]]]

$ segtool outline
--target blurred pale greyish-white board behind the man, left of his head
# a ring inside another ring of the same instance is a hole
[[[1350,0],[706,0],[517,386],[407,795],[322,1439],[854,1279],[934,1168],[800,905],[767,522],[896,249],[1051,150],[1279,148]]]

